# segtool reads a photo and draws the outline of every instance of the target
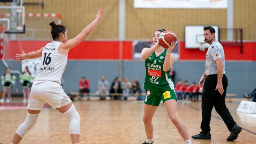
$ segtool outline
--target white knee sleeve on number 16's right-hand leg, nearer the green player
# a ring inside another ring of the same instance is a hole
[[[69,133],[80,135],[80,116],[76,111],[74,105],[72,105],[66,112],[63,113],[69,120]]]

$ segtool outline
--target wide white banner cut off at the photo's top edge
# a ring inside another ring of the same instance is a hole
[[[227,9],[228,0],[134,0],[134,8]]]

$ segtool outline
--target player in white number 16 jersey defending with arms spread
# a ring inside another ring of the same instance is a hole
[[[96,19],[75,38],[67,41],[67,30],[65,26],[56,25],[51,22],[51,34],[53,41],[46,44],[36,52],[27,54],[22,51],[21,55],[16,55],[15,60],[33,59],[42,56],[41,67],[34,79],[31,88],[29,104],[27,106],[27,117],[23,124],[17,129],[11,144],[18,144],[28,130],[37,121],[38,115],[47,102],[52,108],[56,108],[70,120],[69,132],[72,144],[79,143],[80,136],[80,116],[76,111],[72,101],[61,87],[61,76],[67,65],[67,54],[70,49],[81,43],[93,30],[102,16],[103,9],[99,8]]]

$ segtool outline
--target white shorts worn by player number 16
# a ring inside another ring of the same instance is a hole
[[[32,85],[27,109],[42,110],[47,102],[52,108],[60,108],[71,102],[61,85],[54,81]]]

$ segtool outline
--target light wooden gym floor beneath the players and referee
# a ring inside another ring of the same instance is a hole
[[[143,125],[143,101],[74,101],[81,117],[80,144],[142,144],[146,139]],[[240,103],[226,103],[236,123],[243,130],[236,141],[228,142],[230,135],[224,122],[213,109],[211,140],[195,140],[193,144],[255,144],[256,114],[236,112]],[[5,105],[5,106],[3,106]],[[9,106],[7,106],[9,105]],[[11,107],[8,109],[3,109]],[[15,109],[13,107],[18,107]],[[9,144],[16,129],[26,118],[26,105],[21,102],[0,103],[0,143]],[[201,102],[177,103],[178,114],[186,125],[189,136],[198,134],[201,124]],[[1,110],[2,109],[2,110]],[[154,118],[156,144],[183,144],[181,136],[169,119],[161,103]],[[26,133],[20,144],[71,144],[69,120],[52,108],[43,108],[37,124]]]

